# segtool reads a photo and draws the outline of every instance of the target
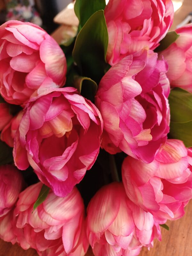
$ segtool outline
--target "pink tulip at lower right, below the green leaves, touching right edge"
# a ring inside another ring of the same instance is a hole
[[[181,218],[184,206],[192,198],[188,158],[187,149],[180,140],[167,140],[150,164],[125,158],[122,177],[127,196],[152,213],[158,223]]]

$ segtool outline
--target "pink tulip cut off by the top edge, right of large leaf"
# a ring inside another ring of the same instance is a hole
[[[171,0],[109,0],[108,63],[113,66],[146,46],[154,50],[171,27],[173,14]]]

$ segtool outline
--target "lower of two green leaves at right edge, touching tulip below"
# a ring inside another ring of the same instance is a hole
[[[187,148],[192,147],[192,121],[186,123],[170,122],[168,137],[182,140]]]

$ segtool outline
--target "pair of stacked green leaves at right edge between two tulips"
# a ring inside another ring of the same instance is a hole
[[[170,133],[169,138],[182,140],[186,147],[192,147],[192,94],[174,88],[169,95]]]

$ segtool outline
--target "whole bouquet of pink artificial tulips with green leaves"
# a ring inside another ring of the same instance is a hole
[[[171,0],[75,13],[60,46],[32,23],[0,26],[0,238],[139,255],[192,198],[192,26],[168,32]]]

